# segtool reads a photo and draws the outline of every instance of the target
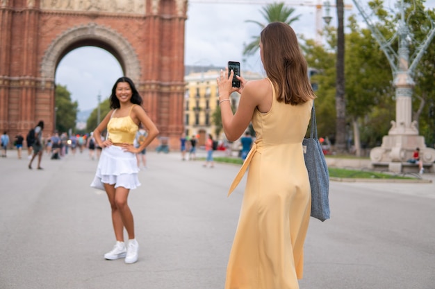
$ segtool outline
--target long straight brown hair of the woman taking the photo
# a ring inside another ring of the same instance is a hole
[[[263,67],[277,91],[277,100],[298,105],[314,99],[308,66],[293,28],[282,22],[272,22],[260,36]]]

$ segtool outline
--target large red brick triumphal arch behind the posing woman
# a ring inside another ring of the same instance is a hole
[[[73,49],[112,53],[161,136],[183,131],[186,0],[0,0],[0,130],[54,130],[55,72]],[[92,85],[92,84],[90,84]]]

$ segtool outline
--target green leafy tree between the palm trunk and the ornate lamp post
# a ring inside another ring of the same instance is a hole
[[[386,103],[394,106],[393,76],[388,60],[370,30],[361,28],[354,16],[349,18],[349,22],[350,33],[346,35],[345,44],[346,113],[347,123],[352,123],[356,155],[361,156],[361,126],[370,131],[371,137],[377,135],[364,122],[368,121],[374,107],[380,110]],[[388,115],[388,112],[385,114]],[[379,123],[376,127],[382,127],[381,132],[385,132],[389,121],[386,124]],[[350,137],[350,125],[347,126],[347,134]],[[374,142],[379,142],[382,136],[377,135]],[[367,146],[367,139],[362,142]]]

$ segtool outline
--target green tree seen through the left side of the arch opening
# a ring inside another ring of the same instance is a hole
[[[66,86],[56,85],[56,130],[59,133],[68,132],[76,128],[76,116],[79,103],[71,100],[71,93]]]

